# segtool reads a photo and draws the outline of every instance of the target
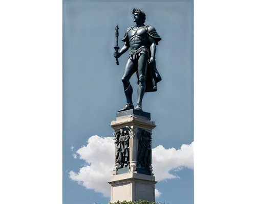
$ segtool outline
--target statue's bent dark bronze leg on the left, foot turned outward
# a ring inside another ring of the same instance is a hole
[[[124,69],[124,74],[122,77],[122,82],[123,82],[123,88],[124,88],[124,93],[126,96],[126,105],[123,109],[119,110],[120,111],[125,111],[125,110],[130,110],[133,109],[133,100],[132,100],[132,94],[133,94],[133,87],[130,84],[130,79],[132,75],[136,72],[136,65],[134,65],[133,61],[128,59],[125,69]]]

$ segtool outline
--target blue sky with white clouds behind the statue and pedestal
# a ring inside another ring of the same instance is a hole
[[[125,105],[121,77],[128,57],[125,53],[116,65],[115,26],[118,23],[122,47],[126,28],[134,24],[133,8],[146,13],[145,24],[153,25],[162,38],[156,53],[162,81],[157,92],[146,93],[143,99],[143,110],[157,125],[152,135],[153,172],[161,195],[156,201],[194,202],[194,1],[66,0],[62,2],[62,204],[110,200],[104,197],[114,162],[108,137],[113,136],[111,121]],[[136,75],[131,83],[136,90]]]

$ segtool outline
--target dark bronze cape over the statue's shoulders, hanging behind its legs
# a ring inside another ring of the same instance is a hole
[[[128,39],[128,33],[133,27],[129,27],[126,29],[126,32],[124,34],[124,37],[122,38],[122,41],[125,42],[125,45],[129,45],[129,39]],[[161,40],[161,37],[156,32],[156,29],[150,25],[145,25],[146,32],[148,36],[152,37],[155,40],[156,45],[158,45],[158,42]],[[150,49],[150,45],[148,47]],[[149,53],[151,57],[151,52]],[[136,71],[138,84],[139,84],[139,74],[138,71]],[[146,90],[145,92],[154,92],[157,91],[156,85],[158,82],[162,80],[157,67],[156,67],[156,60],[154,63],[147,64],[147,73],[146,73]],[[154,88],[155,87],[155,88]]]

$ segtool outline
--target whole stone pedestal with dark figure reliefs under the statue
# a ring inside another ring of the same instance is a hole
[[[115,164],[109,182],[111,202],[139,199],[155,202],[157,182],[151,165],[151,134],[155,122],[151,121],[150,113],[143,111],[128,110],[118,112],[116,116],[111,122],[116,141]]]

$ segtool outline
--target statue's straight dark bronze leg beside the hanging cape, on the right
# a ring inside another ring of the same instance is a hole
[[[146,71],[147,71],[148,58],[145,54],[142,54],[138,59],[138,101],[135,109],[142,111],[142,99],[146,90]]]

